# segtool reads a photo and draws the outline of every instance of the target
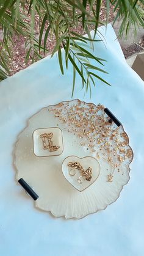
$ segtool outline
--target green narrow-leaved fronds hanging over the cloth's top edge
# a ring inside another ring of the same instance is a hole
[[[91,84],[95,86],[93,78],[104,81],[97,73],[104,72],[104,59],[93,54],[93,43],[90,31],[103,24],[99,13],[102,0],[1,0],[0,1],[0,29],[3,32],[3,40],[0,42],[0,80],[11,75],[9,61],[13,58],[12,37],[23,35],[26,38],[26,62],[41,59],[49,53],[48,38],[54,41],[51,57],[58,51],[58,59],[62,75],[68,62],[73,65],[73,89],[74,93],[76,73],[81,76],[82,88],[91,92]],[[121,19],[120,36],[128,35],[131,26],[143,26],[143,0],[106,0],[106,23],[109,22],[109,10],[113,5],[115,19]],[[21,10],[23,10],[21,12]],[[35,34],[35,15],[39,17],[39,37]],[[31,22],[27,21],[27,16]],[[81,32],[77,33],[77,27]],[[88,35],[85,37],[84,34]],[[99,35],[101,36],[101,35]],[[103,40],[103,38],[101,38]],[[61,48],[65,50],[62,59]],[[90,49],[91,50],[90,50]],[[91,63],[93,60],[93,64]],[[95,62],[95,64],[94,64]],[[101,68],[99,67],[101,66]]]

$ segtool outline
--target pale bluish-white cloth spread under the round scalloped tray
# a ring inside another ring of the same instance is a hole
[[[106,43],[95,55],[107,59],[99,73],[112,87],[96,80],[92,98],[84,96],[77,76],[73,98],[104,104],[123,123],[134,150],[131,180],[106,210],[81,220],[53,218],[37,210],[15,181],[13,147],[27,119],[39,109],[71,100],[73,69],[60,74],[57,57],[46,57],[0,83],[0,255],[2,256],[143,256],[144,84],[126,64],[111,25],[99,29]]]

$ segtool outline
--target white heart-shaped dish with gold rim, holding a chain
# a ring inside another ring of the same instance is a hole
[[[88,171],[90,178],[88,178]],[[62,163],[62,172],[74,188],[78,191],[84,191],[98,178],[100,166],[92,156],[85,156],[84,158],[68,156]]]

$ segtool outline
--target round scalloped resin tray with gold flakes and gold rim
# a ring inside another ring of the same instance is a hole
[[[33,132],[51,127],[62,130],[63,152],[35,156]],[[35,206],[66,219],[83,218],[115,202],[129,181],[133,158],[123,126],[110,122],[103,105],[80,100],[63,101],[33,115],[18,137],[14,154],[16,180],[23,178],[38,194]],[[63,176],[62,163],[68,156],[92,156],[100,165],[95,182],[81,192]]]

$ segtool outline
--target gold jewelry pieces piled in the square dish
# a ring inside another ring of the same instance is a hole
[[[52,136],[53,133],[40,134],[41,140],[43,142],[43,149],[48,149],[49,152],[57,151],[60,148],[60,146],[53,145]],[[46,139],[48,141],[48,145],[46,144]]]

